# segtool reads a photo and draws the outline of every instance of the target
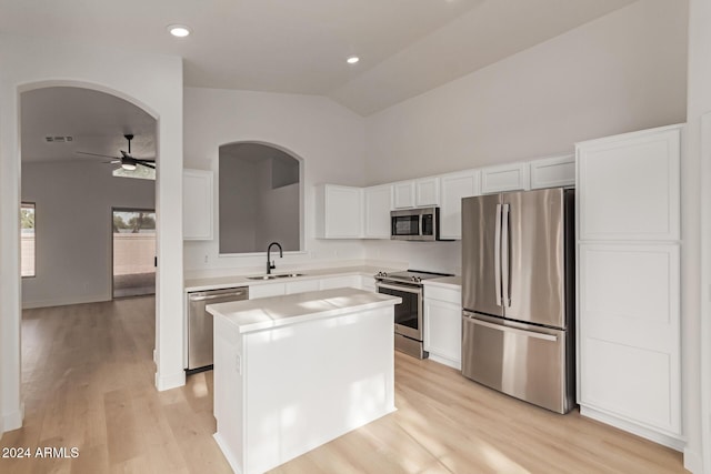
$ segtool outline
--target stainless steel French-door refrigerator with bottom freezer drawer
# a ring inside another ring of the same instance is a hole
[[[574,405],[573,200],[462,200],[462,374],[558,413]]]

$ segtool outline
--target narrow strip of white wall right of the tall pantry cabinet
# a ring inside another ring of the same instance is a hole
[[[689,102],[682,161],[684,466],[711,473],[711,1],[689,2]]]

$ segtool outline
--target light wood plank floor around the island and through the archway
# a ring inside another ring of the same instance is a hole
[[[223,473],[211,372],[157,392],[153,297],[29,310],[24,426],[2,447],[79,448],[0,458],[0,473]],[[512,400],[432,361],[395,354],[398,411],[274,473],[682,473],[681,454],[577,412]]]

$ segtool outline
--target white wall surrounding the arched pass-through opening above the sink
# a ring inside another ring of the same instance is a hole
[[[306,252],[277,258],[277,269],[363,258],[359,241],[313,238],[313,185],[362,185],[365,181],[363,118],[321,97],[186,88],[184,127],[186,168],[217,173],[218,148],[238,141],[273,144],[303,160]],[[217,209],[217,189],[214,200]],[[219,235],[219,222],[214,225],[214,235]],[[264,262],[263,254],[219,256],[217,239],[184,244],[184,268],[190,276],[263,272]]]

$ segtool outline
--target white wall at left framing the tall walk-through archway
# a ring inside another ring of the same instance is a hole
[[[182,370],[182,60],[0,34],[0,416],[21,425],[19,94],[43,85],[89,87],[158,120],[156,383],[184,383]],[[131,68],[117,68],[131,64]],[[140,71],[140,73],[136,73]]]

